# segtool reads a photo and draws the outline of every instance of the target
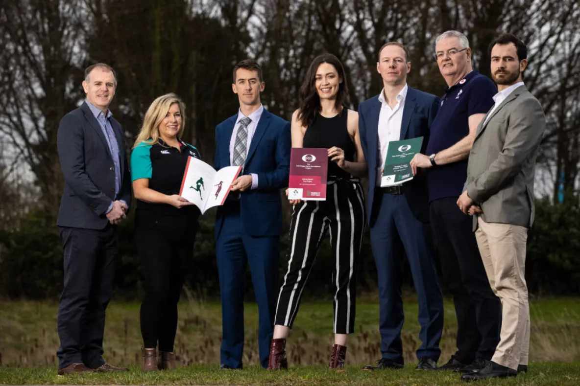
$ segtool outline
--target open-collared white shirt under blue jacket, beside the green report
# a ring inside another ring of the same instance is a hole
[[[376,167],[376,186],[380,187],[382,170],[387,158],[387,148],[390,141],[398,141],[401,138],[401,123],[403,122],[403,109],[405,98],[409,86],[405,84],[403,89],[397,94],[397,104],[391,108],[385,100],[385,89],[380,90],[380,113],[379,113],[379,163]],[[397,184],[400,185],[400,184]]]

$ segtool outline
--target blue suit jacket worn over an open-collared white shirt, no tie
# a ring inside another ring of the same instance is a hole
[[[372,227],[376,220],[378,207],[374,205],[374,194],[376,186],[376,170],[379,162],[379,96],[365,100],[358,106],[358,130],[360,130],[362,151],[368,165],[368,199],[367,199],[367,219]],[[403,109],[403,120],[401,122],[400,139],[409,139],[423,136],[421,152],[425,154],[425,148],[429,142],[429,129],[439,108],[438,97],[409,87],[407,99]],[[411,181],[404,183],[404,194],[407,198],[411,212],[416,219],[429,221],[429,198],[427,195],[427,180],[425,173],[419,173]]]

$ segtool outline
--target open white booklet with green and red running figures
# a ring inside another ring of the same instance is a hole
[[[241,166],[226,166],[216,172],[204,161],[190,156],[179,195],[197,205],[203,214],[213,206],[223,205],[241,170]]]

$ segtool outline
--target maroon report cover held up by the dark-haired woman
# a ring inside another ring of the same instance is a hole
[[[324,201],[326,199],[328,150],[292,148],[288,199]]]

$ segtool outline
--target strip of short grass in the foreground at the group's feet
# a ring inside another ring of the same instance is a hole
[[[402,370],[363,372],[349,366],[336,373],[320,366],[291,367],[288,372],[268,372],[252,366],[244,370],[219,370],[216,366],[189,366],[171,372],[143,373],[133,366],[129,373],[57,376],[56,367],[9,367],[0,370],[0,384],[73,385],[368,385],[447,386],[465,384],[453,372],[419,372],[407,365]],[[533,363],[527,374],[477,385],[577,386],[580,370],[573,363]]]

